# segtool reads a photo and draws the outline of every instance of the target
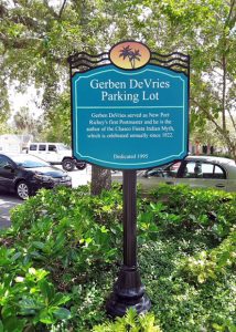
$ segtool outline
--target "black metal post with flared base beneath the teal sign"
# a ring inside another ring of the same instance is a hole
[[[112,317],[122,317],[131,307],[138,313],[147,312],[151,307],[137,267],[136,184],[136,170],[124,170],[124,264],[107,301],[107,312]]]

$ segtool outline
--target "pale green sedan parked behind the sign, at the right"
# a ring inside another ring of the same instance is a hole
[[[214,156],[189,156],[181,162],[137,172],[143,191],[159,184],[186,184],[191,187],[217,188],[236,191],[236,164],[232,159]],[[112,180],[121,183],[121,174],[114,173]]]

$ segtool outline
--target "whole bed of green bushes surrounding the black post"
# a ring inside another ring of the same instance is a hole
[[[128,313],[133,331],[235,331],[235,194],[185,186],[138,198],[152,314]],[[0,237],[0,331],[129,331],[127,317],[103,324],[121,262],[121,221],[116,188],[93,197],[87,187],[58,187],[18,206]]]

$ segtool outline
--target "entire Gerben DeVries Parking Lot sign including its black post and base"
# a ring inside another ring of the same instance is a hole
[[[187,155],[190,59],[126,41],[98,55],[71,55],[68,62],[74,157],[124,170],[124,266],[107,310],[148,311],[137,267],[136,170]]]

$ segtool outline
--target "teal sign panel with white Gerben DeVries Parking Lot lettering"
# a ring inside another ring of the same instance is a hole
[[[148,64],[114,64],[72,77],[74,157],[114,169],[142,169],[187,155],[189,77]]]

